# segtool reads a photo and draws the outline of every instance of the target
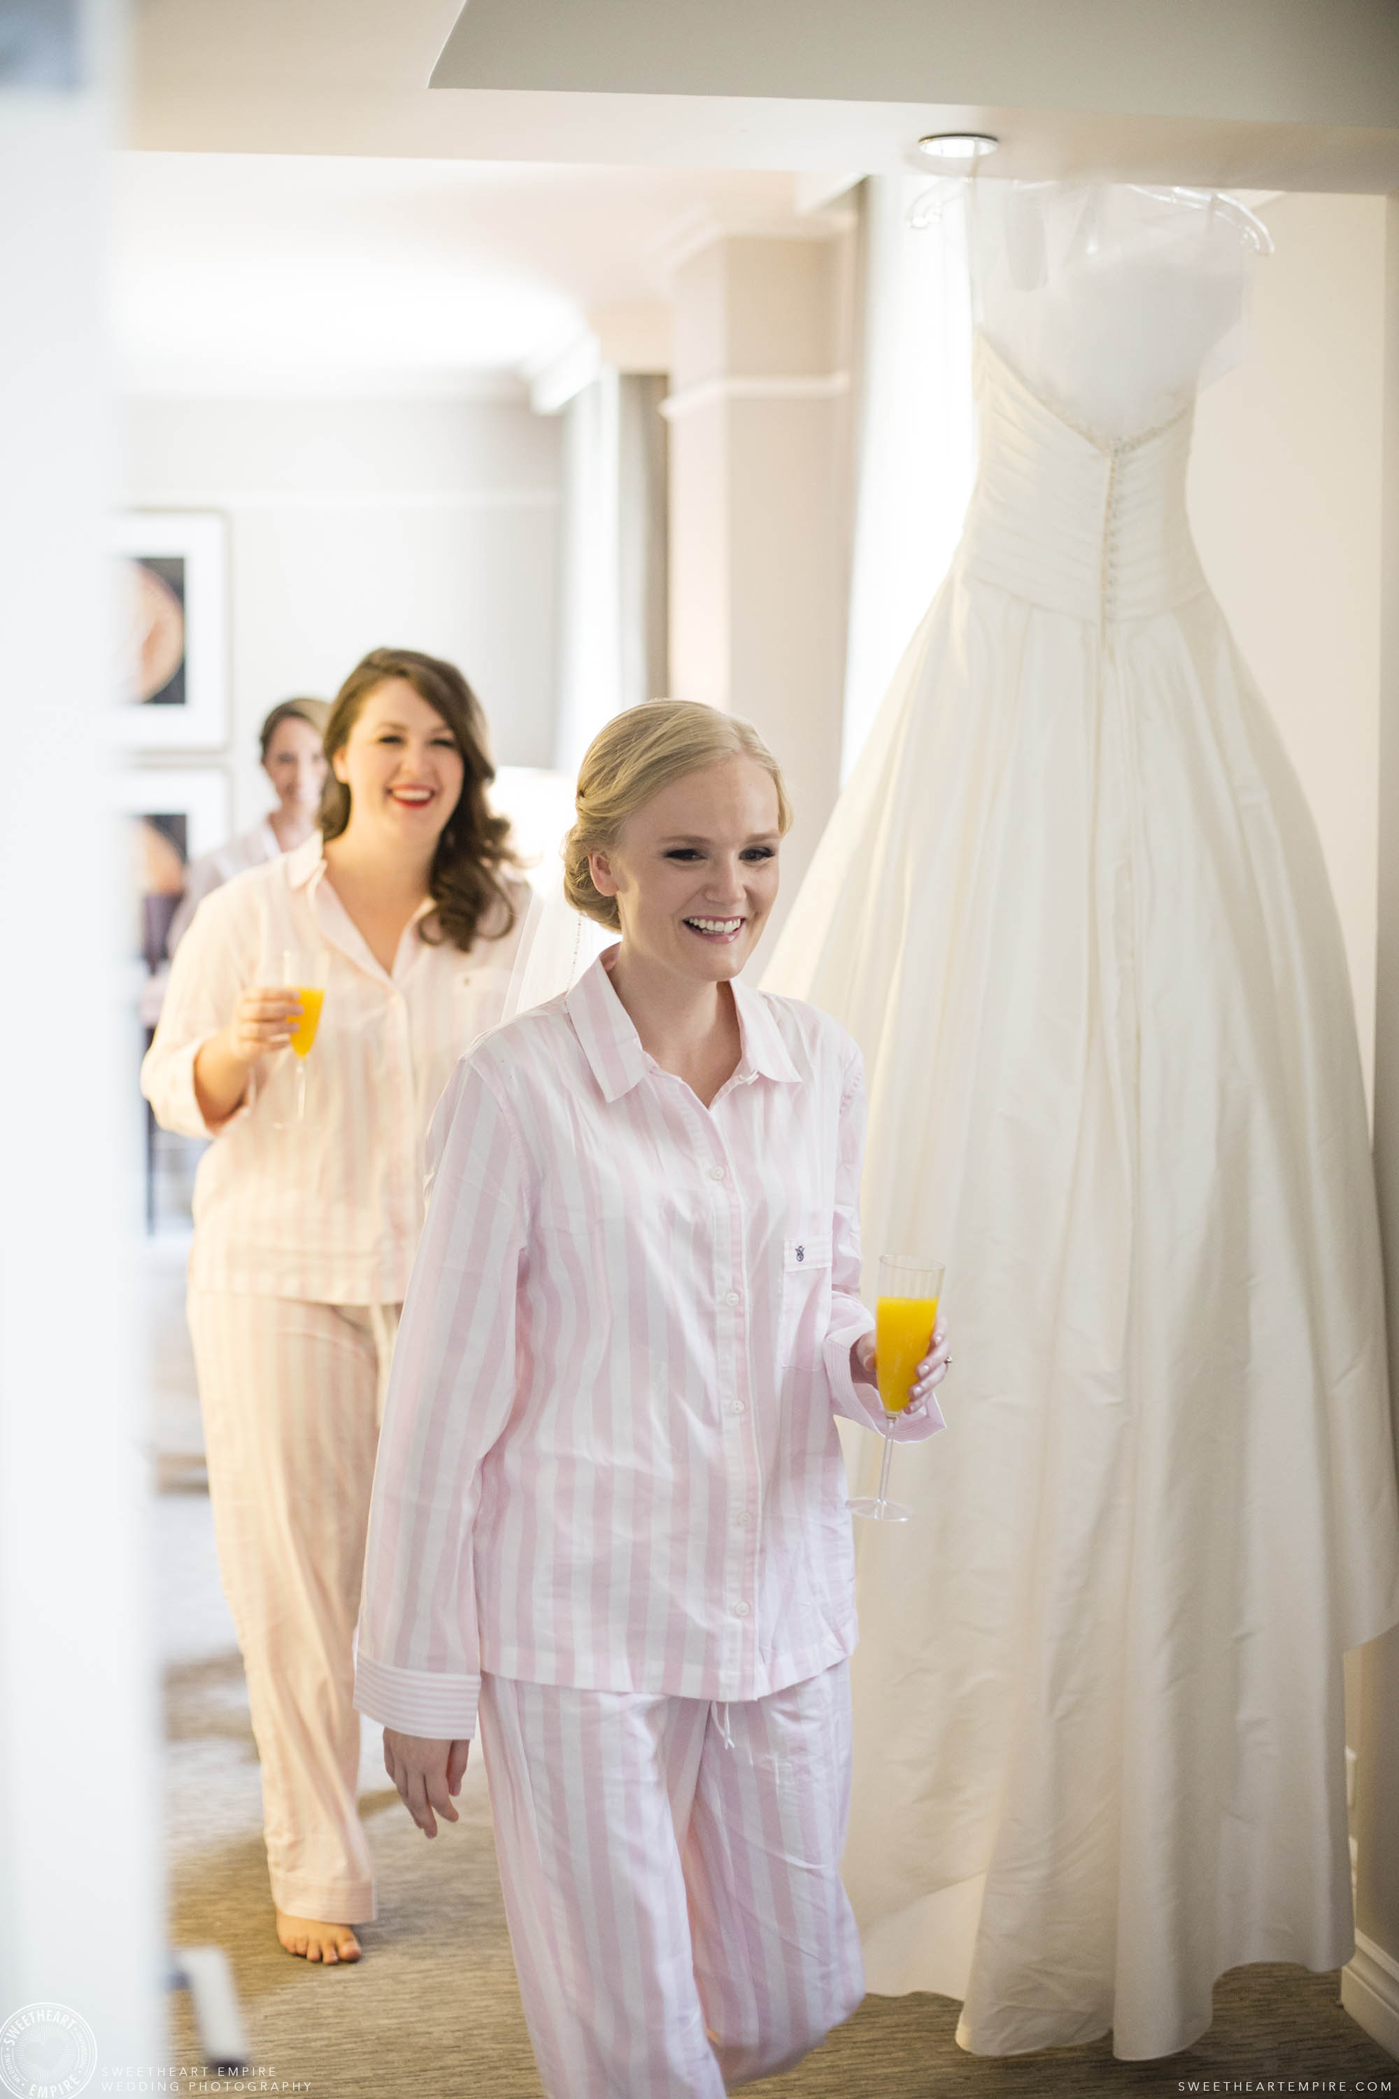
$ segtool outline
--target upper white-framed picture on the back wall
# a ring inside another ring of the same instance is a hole
[[[212,751],[229,741],[229,544],[212,510],[128,510],[120,563],[117,741]]]

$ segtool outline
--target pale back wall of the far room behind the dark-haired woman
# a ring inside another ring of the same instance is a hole
[[[556,418],[514,401],[132,401],[126,500],[229,518],[235,825],[266,806],[256,728],[380,644],[445,655],[499,764],[547,766]]]

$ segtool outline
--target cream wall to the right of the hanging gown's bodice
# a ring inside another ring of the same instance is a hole
[[[1206,573],[1321,831],[1374,1083],[1384,197],[1261,214],[1244,361],[1200,399],[1189,506]]]

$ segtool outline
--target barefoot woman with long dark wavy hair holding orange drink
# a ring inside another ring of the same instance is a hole
[[[354,1797],[354,1614],[424,1133],[503,1010],[531,919],[480,707],[451,663],[373,651],[325,728],[321,827],[214,890],[143,1066],[168,1129],[212,1138],[189,1327],[210,1499],[262,1763],[277,1935],[359,1958],[373,1874]],[[327,963],[296,1119],[283,955]]]

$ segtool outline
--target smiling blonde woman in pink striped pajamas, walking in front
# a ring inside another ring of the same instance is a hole
[[[438,1108],[357,1702],[428,1837],[480,1717],[552,2099],[717,2099],[864,1992],[835,1432],[885,1419],[862,1075],[824,1014],[736,982],[789,825],[747,724],[629,709],[577,808],[568,892],[621,942]],[[896,1434],[942,1427],[944,1369],[938,1331]]]

